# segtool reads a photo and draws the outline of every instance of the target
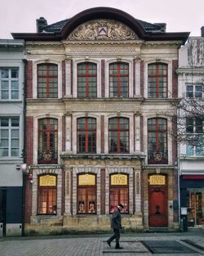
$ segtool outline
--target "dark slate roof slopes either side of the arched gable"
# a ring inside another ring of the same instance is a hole
[[[60,32],[61,29],[64,28],[64,25],[66,25],[66,23],[69,21],[70,19],[66,19],[66,20],[60,20],[58,22],[55,22],[51,25],[47,25],[45,27],[42,28],[42,32],[47,32],[47,33],[55,33],[55,32]],[[144,30],[146,32],[161,32],[162,28],[159,25],[155,25],[149,22],[146,22],[144,20],[138,20],[140,25],[143,26]]]

